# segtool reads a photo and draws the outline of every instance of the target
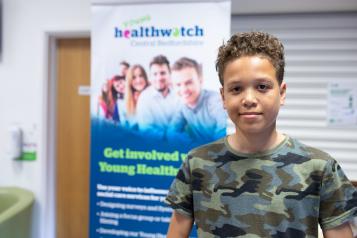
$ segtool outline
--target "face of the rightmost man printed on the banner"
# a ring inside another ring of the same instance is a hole
[[[172,83],[175,91],[182,102],[194,107],[197,104],[201,92],[201,78],[194,68],[183,68],[178,71],[172,71]]]

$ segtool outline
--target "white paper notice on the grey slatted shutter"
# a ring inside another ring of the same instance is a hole
[[[329,83],[327,122],[330,126],[357,126],[357,80]]]

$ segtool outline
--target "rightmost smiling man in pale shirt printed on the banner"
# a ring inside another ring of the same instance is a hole
[[[195,60],[182,57],[171,67],[174,91],[181,104],[168,129],[172,141],[203,143],[226,135],[227,116],[219,93],[202,89],[202,67]]]

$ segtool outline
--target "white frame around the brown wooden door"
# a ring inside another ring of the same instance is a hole
[[[44,82],[45,104],[43,122],[43,151],[45,158],[45,170],[43,170],[43,191],[45,198],[41,212],[42,237],[56,238],[56,96],[57,96],[57,40],[90,38],[90,31],[51,31],[45,33],[47,50],[47,72]],[[89,208],[88,208],[89,209]]]

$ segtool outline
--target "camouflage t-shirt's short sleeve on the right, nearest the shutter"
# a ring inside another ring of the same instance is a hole
[[[340,165],[331,159],[325,166],[320,191],[319,222],[322,229],[331,229],[357,215],[357,191]]]

